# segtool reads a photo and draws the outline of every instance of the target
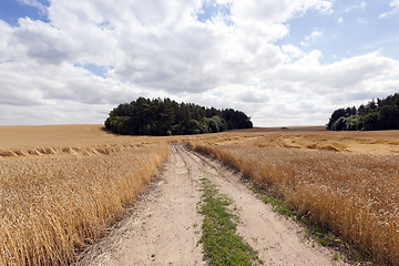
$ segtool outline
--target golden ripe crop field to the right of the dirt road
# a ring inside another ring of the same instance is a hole
[[[399,131],[255,129],[185,139],[381,263],[399,265]]]

